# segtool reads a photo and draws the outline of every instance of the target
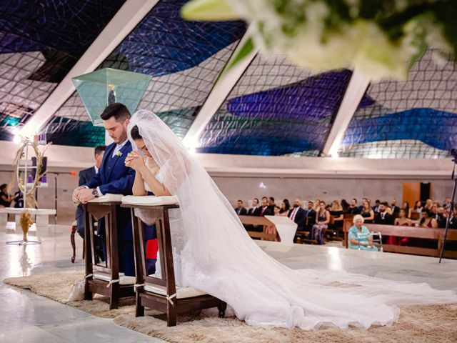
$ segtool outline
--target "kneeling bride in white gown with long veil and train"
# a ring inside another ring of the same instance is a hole
[[[396,322],[398,305],[457,302],[456,293],[428,284],[284,266],[248,236],[209,174],[164,121],[141,110],[132,116],[128,131],[136,150],[126,165],[136,169],[136,186],[179,199],[183,224],[172,232],[173,244],[181,243],[174,247],[181,260],[179,286],[224,300],[247,324],[368,328]],[[140,151],[148,157],[149,166]]]

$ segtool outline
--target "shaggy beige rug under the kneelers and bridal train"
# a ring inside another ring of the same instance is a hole
[[[145,317],[134,317],[134,299],[124,299],[119,309],[109,310],[105,297],[94,301],[68,302],[71,284],[83,279],[83,272],[33,275],[4,279],[6,284],[32,292],[63,304],[77,307],[98,317],[114,318],[123,327],[173,343],[273,343],[273,342],[457,342],[457,304],[403,307],[398,323],[392,327],[334,327],[311,331],[300,329],[264,329],[249,327],[236,318],[205,317],[199,312],[181,314],[176,327],[166,327],[164,314],[146,311]]]

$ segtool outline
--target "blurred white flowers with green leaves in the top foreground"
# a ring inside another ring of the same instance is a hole
[[[339,11],[343,7],[330,7],[328,0],[194,0],[184,12],[194,20],[211,16],[230,20],[238,14],[251,24],[253,41],[264,53],[286,54],[294,64],[314,71],[353,67],[373,81],[406,79],[408,64],[428,45],[451,51],[431,8],[399,24],[396,21],[393,39],[376,24],[381,13],[363,19],[361,1],[345,2],[346,12]],[[391,16],[417,4],[396,0],[393,5]],[[378,11],[388,9],[377,6]]]

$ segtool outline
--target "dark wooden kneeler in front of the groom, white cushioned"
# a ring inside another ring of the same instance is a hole
[[[119,273],[119,245],[117,238],[116,207],[121,202],[89,202],[84,205],[84,250],[86,254],[86,282],[84,299],[92,300],[92,294],[109,297],[109,309],[116,309],[120,298],[134,297],[135,277],[126,277]],[[106,232],[106,267],[95,262],[95,242],[92,216],[105,218]],[[90,242],[90,244],[87,244]]]

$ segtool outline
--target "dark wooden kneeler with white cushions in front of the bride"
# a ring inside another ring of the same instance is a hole
[[[179,312],[218,307],[219,317],[224,317],[226,303],[204,292],[189,287],[176,287],[174,277],[173,250],[169,222],[169,209],[177,205],[144,206],[122,204],[131,209],[132,227],[134,228],[134,249],[136,268],[136,317],[144,316],[144,307],[166,313],[166,324],[176,326]],[[136,217],[134,209],[146,211],[148,217],[156,218],[157,239],[161,264],[161,278],[146,272],[146,254],[141,219]]]

